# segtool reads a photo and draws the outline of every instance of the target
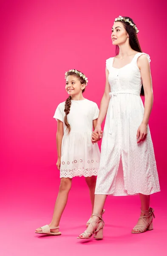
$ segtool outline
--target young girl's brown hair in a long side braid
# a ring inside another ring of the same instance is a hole
[[[77,70],[77,71],[80,72],[79,70]],[[76,78],[79,79],[79,81],[81,82],[81,84],[86,84],[86,80],[83,79],[83,77],[76,75],[76,73],[73,72],[73,71],[68,71],[68,72],[67,72],[67,75],[66,75],[66,78],[67,78],[68,76],[76,76]],[[85,88],[82,90],[82,93],[84,93],[84,92],[85,92]],[[64,112],[65,112],[64,122],[65,122],[65,125],[66,125],[67,129],[68,129],[68,134],[69,134],[70,131],[71,131],[71,126],[70,126],[70,124],[68,123],[68,119],[67,119],[67,115],[70,113],[70,108],[71,108],[71,96],[69,96],[69,97],[66,99],[66,101],[65,101],[65,109],[64,109]]]

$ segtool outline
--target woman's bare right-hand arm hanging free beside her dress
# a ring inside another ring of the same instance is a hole
[[[144,88],[144,116],[141,125],[137,131],[137,143],[145,140],[147,137],[147,125],[150,118],[150,113],[153,107],[153,87],[152,79],[150,73],[150,64],[148,62],[146,55],[141,55],[137,61],[138,67],[140,69],[143,88]]]

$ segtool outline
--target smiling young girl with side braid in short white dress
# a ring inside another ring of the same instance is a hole
[[[67,204],[72,178],[75,176],[85,177],[93,210],[100,151],[97,144],[92,144],[91,134],[92,127],[96,127],[99,108],[95,102],[82,96],[88,84],[83,73],[69,70],[65,73],[65,79],[65,90],[69,97],[58,105],[54,114],[57,120],[57,168],[60,170],[60,187],[52,221],[35,231],[40,234],[61,235],[59,221]],[[98,141],[98,134],[93,134]]]

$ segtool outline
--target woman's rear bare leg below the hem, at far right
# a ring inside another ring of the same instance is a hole
[[[140,196],[140,200],[141,200],[141,210],[145,211],[145,212],[141,212],[140,216],[144,216],[144,215],[148,215],[149,214],[149,208],[150,208],[150,195],[143,195],[143,194],[139,194]],[[142,218],[139,219],[137,224],[144,224],[144,221],[142,220]],[[133,232],[139,233],[140,230],[138,229],[133,229]]]

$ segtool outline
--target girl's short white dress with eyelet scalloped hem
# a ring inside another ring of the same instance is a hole
[[[97,143],[92,144],[91,134],[93,120],[99,116],[99,108],[95,102],[88,99],[71,100],[70,113],[67,116],[68,123],[71,125],[69,134],[64,122],[64,109],[65,102],[62,102],[54,114],[54,118],[62,121],[64,127],[60,178],[96,176],[99,169],[100,151]]]

